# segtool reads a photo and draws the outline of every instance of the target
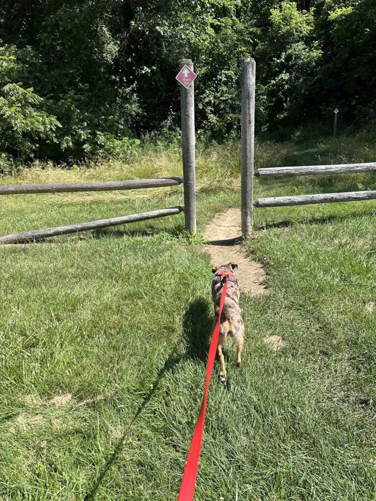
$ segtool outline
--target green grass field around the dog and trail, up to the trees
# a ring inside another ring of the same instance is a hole
[[[372,137],[259,144],[256,166],[371,161]],[[373,149],[372,149],[373,147]],[[198,155],[198,221],[239,206],[238,145]],[[179,175],[178,152],[2,184]],[[360,187],[359,187],[360,186]],[[256,196],[375,178],[256,181]],[[182,190],[2,197],[0,234],[182,204]],[[256,209],[269,294],[243,295],[243,365],[210,387],[198,501],[376,498],[376,202]],[[211,265],[183,215],[0,247],[0,499],[162,501],[177,492],[211,335]],[[272,351],[263,341],[281,336]],[[61,397],[61,399],[59,399]]]

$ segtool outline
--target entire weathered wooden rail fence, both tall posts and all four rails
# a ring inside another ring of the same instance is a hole
[[[190,59],[182,59],[180,69],[186,65],[193,71]],[[312,195],[277,196],[253,200],[253,179],[266,177],[332,175],[354,172],[376,171],[376,162],[341,165],[309,165],[300,167],[262,168],[254,171],[254,129],[255,129],[255,84],[256,63],[252,58],[243,62],[242,75],[242,127],[241,127],[241,207],[242,233],[247,238],[252,234],[254,207],[278,207],[287,205],[305,205],[311,203],[350,202],[376,199],[376,190],[349,191],[346,193],[317,193]],[[177,186],[183,183],[184,206],[130,214],[127,216],[100,219],[98,221],[44,228],[0,237],[0,243],[22,243],[40,240],[48,236],[74,233],[91,229],[105,228],[118,224],[144,221],[156,217],[169,216],[184,211],[186,231],[196,233],[196,160],[195,160],[195,96],[194,83],[189,88],[180,85],[181,133],[183,177],[165,177],[160,179],[136,179],[129,181],[105,181],[62,184],[31,184],[0,186],[0,195],[68,193],[77,191],[110,191]]]

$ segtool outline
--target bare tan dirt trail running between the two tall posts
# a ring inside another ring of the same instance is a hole
[[[241,211],[229,209],[219,214],[205,228],[204,237],[208,240],[207,252],[211,255],[213,265],[237,263],[235,275],[240,290],[256,296],[264,294],[266,273],[261,263],[248,258],[244,245],[241,244]]]

